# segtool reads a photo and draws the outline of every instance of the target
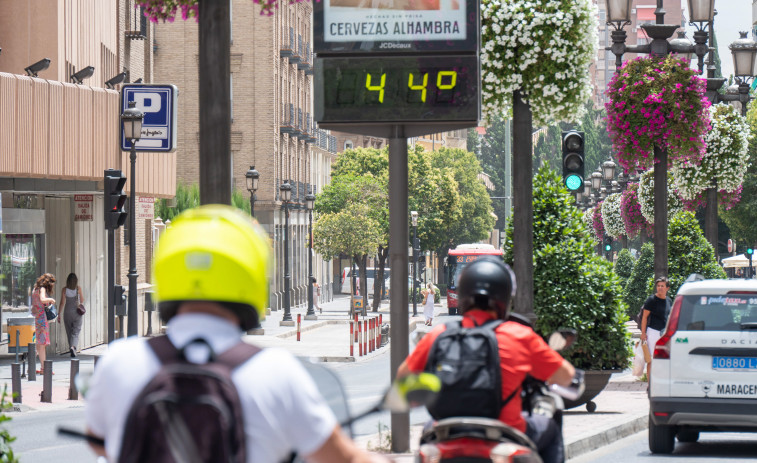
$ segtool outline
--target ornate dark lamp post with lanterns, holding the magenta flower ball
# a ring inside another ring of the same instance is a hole
[[[704,70],[704,55],[709,51],[707,45],[707,26],[715,15],[715,0],[688,0],[689,24],[696,27],[694,42],[668,42],[667,39],[680,26],[664,24],[665,10],[663,0],[657,0],[655,9],[655,24],[642,24],[651,43],[644,45],[626,45],[626,31],[623,27],[631,24],[631,8],[633,0],[606,0],[607,24],[615,29],[612,32],[612,46],[610,50],[615,54],[616,72],[623,64],[624,53],[647,53],[654,56],[666,56],[669,53],[694,53],[697,55],[699,72]],[[654,269],[655,277],[668,274],[668,152],[663,147],[654,147]]]

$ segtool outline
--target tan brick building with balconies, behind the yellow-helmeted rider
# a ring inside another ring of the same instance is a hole
[[[336,139],[316,127],[312,103],[312,9],[309,2],[281,3],[276,13],[260,15],[249,0],[231,1],[231,151],[232,185],[245,196],[245,173],[260,173],[255,216],[274,244],[276,268],[271,283],[272,310],[282,308],[285,245],[284,204],[279,187],[292,184],[289,247],[292,306],[307,302],[306,247],[309,214],[304,197],[330,181]],[[199,182],[198,25],[194,20],[161,23],[155,28],[155,74],[182,92],[179,108],[177,177]],[[331,297],[330,262],[315,255],[313,274],[324,300]]]

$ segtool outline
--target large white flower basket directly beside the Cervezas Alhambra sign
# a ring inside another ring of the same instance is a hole
[[[482,112],[509,114],[521,91],[534,125],[578,121],[591,97],[597,7],[590,0],[483,0]]]

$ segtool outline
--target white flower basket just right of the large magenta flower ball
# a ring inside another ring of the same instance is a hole
[[[689,210],[703,206],[705,190],[717,185],[721,204],[727,209],[741,199],[741,184],[749,165],[749,124],[728,104],[710,107],[712,130],[707,134],[707,152],[698,164],[673,164],[675,188]],[[736,193],[738,190],[738,193]]]

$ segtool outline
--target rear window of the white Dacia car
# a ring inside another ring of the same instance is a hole
[[[683,298],[679,330],[741,331],[757,325],[757,297],[727,294]]]

